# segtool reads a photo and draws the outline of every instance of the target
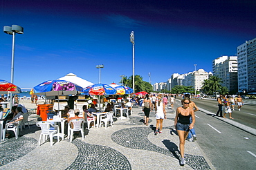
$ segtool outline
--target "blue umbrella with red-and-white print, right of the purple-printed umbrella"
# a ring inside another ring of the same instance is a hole
[[[115,95],[116,89],[107,84],[93,84],[84,88],[85,95]]]

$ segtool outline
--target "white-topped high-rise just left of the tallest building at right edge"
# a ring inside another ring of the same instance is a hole
[[[237,93],[237,56],[222,56],[212,61],[213,75],[221,79],[221,86]]]

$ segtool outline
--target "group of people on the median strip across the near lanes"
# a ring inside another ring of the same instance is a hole
[[[241,106],[244,105],[243,99],[240,95],[233,97],[229,95],[219,95],[217,98],[219,109],[215,116],[220,116],[226,118],[226,114],[229,115],[230,119],[234,119],[232,117],[232,111],[235,111],[235,105],[237,104],[238,111],[241,111]],[[222,108],[225,107],[224,115],[222,114]]]

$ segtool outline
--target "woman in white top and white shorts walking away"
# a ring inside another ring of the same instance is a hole
[[[158,95],[158,100],[155,103],[155,110],[156,110],[156,131],[157,133],[162,133],[163,128],[163,119],[166,119],[166,111],[165,111],[165,103],[163,103],[163,95]]]

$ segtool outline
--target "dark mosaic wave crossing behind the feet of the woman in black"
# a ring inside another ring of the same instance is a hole
[[[163,129],[170,129],[171,127],[165,127]],[[143,149],[147,151],[155,151],[157,153],[163,153],[169,155],[173,158],[179,159],[180,154],[178,146],[170,141],[163,141],[167,149],[152,144],[147,139],[147,135],[152,133],[153,129],[150,127],[134,127],[122,129],[116,131],[111,135],[113,142],[122,145],[123,147],[128,147],[131,149]],[[205,161],[203,156],[199,155],[189,155],[186,154],[186,164],[188,164],[193,169],[210,169],[210,166]]]

